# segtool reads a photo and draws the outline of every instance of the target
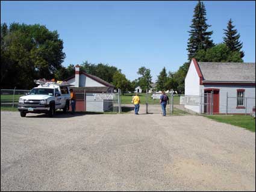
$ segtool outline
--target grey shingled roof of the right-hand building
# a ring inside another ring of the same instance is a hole
[[[202,82],[255,83],[255,63],[198,62]]]

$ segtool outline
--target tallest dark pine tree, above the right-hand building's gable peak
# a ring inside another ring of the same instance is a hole
[[[213,40],[210,39],[213,31],[207,31],[208,27],[211,25],[207,25],[205,16],[206,10],[204,3],[199,1],[194,10],[192,25],[190,25],[192,29],[189,31],[190,38],[187,43],[189,60],[191,60],[199,50],[206,50],[214,46]]]

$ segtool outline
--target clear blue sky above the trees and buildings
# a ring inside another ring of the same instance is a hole
[[[203,1],[214,43],[233,20],[245,52],[255,63],[255,1]],[[155,82],[163,67],[187,62],[187,40],[198,1],[1,1],[1,23],[45,25],[57,30],[69,64],[104,63],[138,78],[139,67]]]

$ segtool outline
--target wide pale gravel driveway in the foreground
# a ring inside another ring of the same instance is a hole
[[[255,191],[255,133],[202,116],[1,111],[1,191]]]

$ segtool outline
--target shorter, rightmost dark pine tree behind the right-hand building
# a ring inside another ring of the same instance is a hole
[[[240,57],[243,58],[245,56],[245,53],[243,51],[240,51],[243,47],[243,43],[239,41],[240,34],[237,34],[237,29],[234,29],[234,25],[232,25],[233,21],[230,19],[228,21],[228,26],[226,29],[223,29],[225,31],[225,37],[223,37],[223,43],[228,46],[228,48],[231,51],[238,51],[240,52]]]

